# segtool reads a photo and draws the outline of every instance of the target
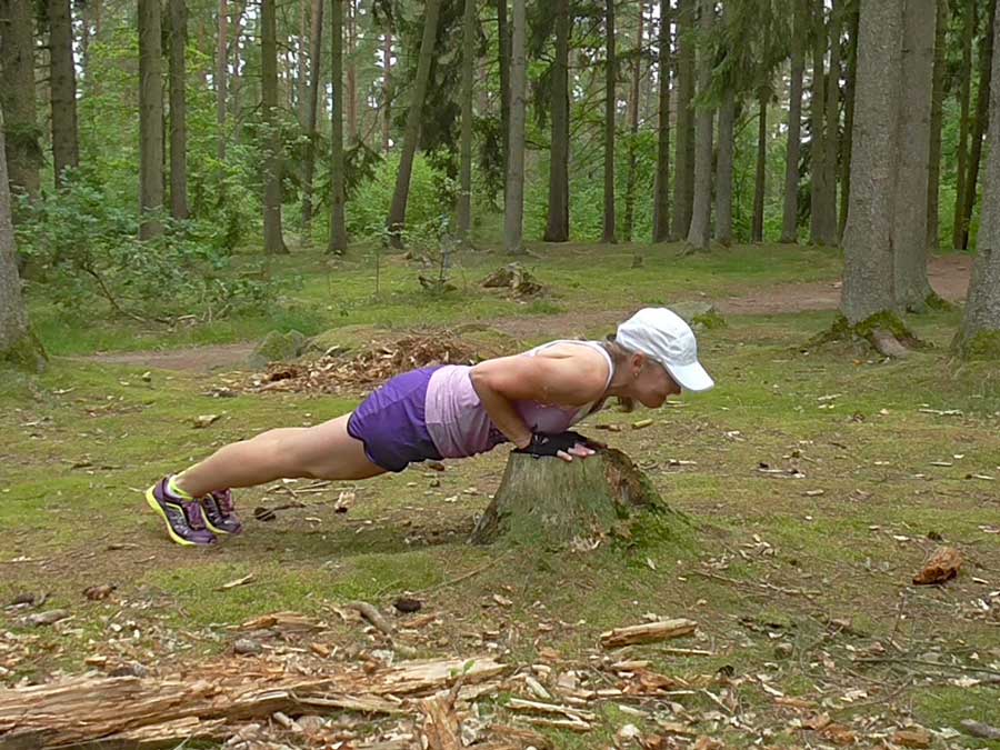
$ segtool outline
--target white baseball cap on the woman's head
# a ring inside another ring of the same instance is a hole
[[[684,390],[697,393],[716,384],[698,361],[694,331],[667,308],[643,308],[618,327],[614,340],[662,364]]]

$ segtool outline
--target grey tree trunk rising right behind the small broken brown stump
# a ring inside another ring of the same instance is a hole
[[[510,151],[503,201],[503,246],[512,254],[524,252],[521,232],[524,214],[524,117],[528,96],[526,26],[524,0],[513,0],[510,34]]]

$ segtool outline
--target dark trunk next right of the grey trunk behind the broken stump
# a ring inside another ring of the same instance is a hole
[[[549,152],[549,220],[546,242],[569,240],[569,37],[570,0],[556,2],[552,62],[552,147]]]

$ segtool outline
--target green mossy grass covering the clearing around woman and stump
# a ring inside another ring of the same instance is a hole
[[[276,260],[304,279],[281,309],[177,330],[142,330],[98,314],[84,323],[42,299],[31,303],[54,354],[242,341],[274,328],[311,333],[471,320],[503,328],[528,319],[522,338],[541,340],[564,334],[567,320],[597,336],[604,332],[606,311],[698,292],[708,299],[764,289],[780,294],[784,283],[833,280],[839,264],[829,250],[781,246],[682,259],[669,247],[539,252],[543,259],[529,264],[552,293],[534,306],[474,290],[476,279],[507,260],[492,252],[464,258],[468,287],[443,299],[416,291],[414,270],[398,258],[383,259],[376,296],[369,259],[331,267],[319,254],[297,253]],[[644,261],[632,269],[637,253]],[[998,624],[978,603],[1000,588],[1000,544],[988,532],[1000,526],[998,484],[967,478],[1000,478],[1000,376],[989,363],[948,361],[943,352],[959,318],[910,319],[936,348],[884,362],[849,344],[803,351],[832,311],[729,317],[724,328],[700,337],[714,391],[659,412],[608,410],[588,426],[624,426],[601,434],[642,461],[668,502],[696,520],[693,539],[678,544],[651,533],[636,547],[587,554],[464,543],[497,488],[502,449],[449,462],[443,473],[414,468],[358,484],[347,516],[330,509],[344,483],[270,523],[249,519],[244,536],[216,549],[172,547],[142,510],[139,491],[157,476],[269,427],[343,413],[357,400],[287,393],[214,399],[207,394],[213,376],[154,370],[143,380],[144,368],[60,357],[36,378],[0,372],[0,601],[44,591],[47,608],[74,616],[71,628],[30,630],[7,612],[4,627],[34,640],[17,660],[4,661],[0,652],[0,681],[81,672],[87,656],[109,648],[150,663],[172,663],[178,654],[214,658],[231,646],[230,626],[276,610],[323,617],[339,642],[368,648],[357,624],[331,612],[352,599],[386,607],[410,591],[441,614],[442,624],[421,647],[428,654],[474,652],[483,633],[501,631],[511,660],[531,663],[552,648],[560,669],[586,669],[602,630],[639,622],[647,612],[696,619],[698,637],[679,644],[716,656],[678,657],[657,644],[628,656],[691,681],[731,668],[730,689],[742,716],[752,712],[753,732],[713,723],[710,712],[719,707],[703,693],[677,699],[700,719],[697,731],[728,747],[758,739],[779,747],[823,742],[790,724],[809,712],[779,707],[761,674],[788,696],[829,699],[817,710],[837,722],[873,728],[858,730],[862,743],[908,720],[936,731],[958,728],[962,719],[996,726],[996,684],[960,678],[984,676],[972,667],[1000,671]],[[223,417],[194,429],[192,418],[203,413]],[[654,423],[628,429],[644,417]],[[941,461],[952,466],[933,464]],[[763,473],[761,464],[794,467],[803,477]],[[239,504],[249,516],[257,504],[287,500],[278,487],[267,487],[241,492]],[[911,586],[938,540],[962,551],[961,574],[942,587]],[[120,544],[134,547],[109,549]],[[220,590],[249,573],[250,584]],[[116,584],[112,600],[83,598],[82,589],[94,583]],[[511,606],[498,606],[493,594]],[[992,601],[996,612],[1000,603]],[[134,638],[102,646],[112,624],[134,630]],[[790,657],[776,651],[781,642],[792,646]],[[877,647],[888,650],[887,661],[858,660],[879,653]],[[929,653],[948,667],[914,661]],[[844,699],[851,690],[867,697]],[[647,708],[651,716],[669,713],[662,701]],[[600,729],[590,734],[553,732],[557,747],[607,747],[629,722],[656,730],[654,721],[622,714],[613,703],[600,714]],[[934,741],[990,747],[964,736]]]

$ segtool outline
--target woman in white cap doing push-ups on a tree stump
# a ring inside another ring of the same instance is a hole
[[[226,446],[161,479],[146,499],[178,544],[211,544],[217,534],[242,530],[233,487],[283,478],[368,479],[508,441],[533,456],[586,459],[593,447],[568,430],[608,397],[657,409],[682,388],[699,392],[713,384],[698,362],[690,327],[666,308],[646,308],[608,342],[551,341],[472,367],[406,372],[350,414]]]

